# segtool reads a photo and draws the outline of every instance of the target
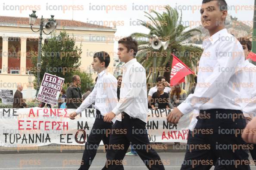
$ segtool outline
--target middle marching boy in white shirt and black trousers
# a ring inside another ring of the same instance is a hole
[[[137,53],[137,41],[131,36],[120,39],[118,42],[119,60],[124,62],[123,79],[120,89],[120,100],[117,106],[105,117],[110,122],[117,115],[122,115],[122,121],[116,121],[110,136],[109,145],[123,144],[123,149],[110,148],[107,152],[106,164],[102,170],[122,170],[122,160],[131,143],[137,154],[150,170],[164,170],[159,155],[150,147],[147,135],[147,83],[144,67],[137,62],[134,56]],[[125,129],[126,134],[118,133]]]

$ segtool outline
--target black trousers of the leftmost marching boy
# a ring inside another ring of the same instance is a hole
[[[84,154],[79,170],[88,170],[90,168],[101,140],[104,145],[109,145],[109,132],[111,131],[112,123],[103,121],[103,115],[100,114],[99,110],[96,110],[96,113],[94,125],[85,143]]]

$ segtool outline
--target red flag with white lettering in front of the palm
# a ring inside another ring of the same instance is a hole
[[[180,61],[175,55],[172,60],[172,71],[170,85],[177,85],[181,82],[185,82],[185,76],[194,74],[190,68],[188,68],[182,61]]]

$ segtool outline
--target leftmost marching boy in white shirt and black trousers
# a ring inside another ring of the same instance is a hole
[[[103,121],[103,116],[114,109],[117,103],[117,80],[106,70],[109,66],[109,62],[110,57],[107,52],[97,52],[94,54],[94,60],[91,65],[94,71],[98,72],[97,82],[93,91],[85,98],[81,106],[69,115],[69,118],[74,119],[78,113],[81,113],[95,102],[94,107],[96,108],[97,114],[90,135],[85,143],[84,154],[79,170],[88,170],[90,168],[101,140],[105,146],[109,145],[112,123]],[[115,119],[112,121],[115,122]],[[106,151],[108,150],[106,149]]]

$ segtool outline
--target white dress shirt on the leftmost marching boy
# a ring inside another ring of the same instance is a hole
[[[101,115],[106,115],[116,107],[118,102],[116,91],[117,79],[112,74],[106,72],[106,70],[103,70],[98,74],[93,91],[84,99],[75,112],[80,113],[95,102],[94,107],[100,111]],[[112,121],[115,122],[116,118]]]

